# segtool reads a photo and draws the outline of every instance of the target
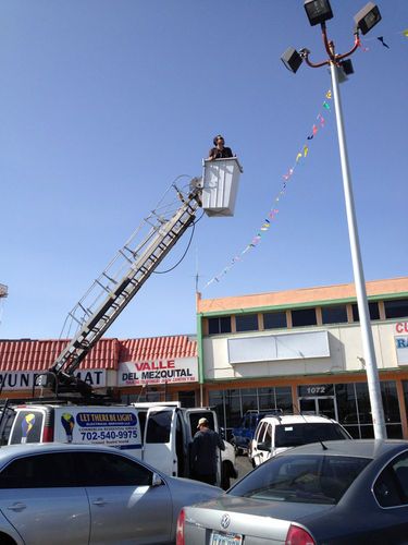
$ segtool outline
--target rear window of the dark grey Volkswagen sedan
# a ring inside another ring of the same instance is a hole
[[[283,455],[257,468],[227,494],[269,501],[334,505],[370,461],[348,456]]]

